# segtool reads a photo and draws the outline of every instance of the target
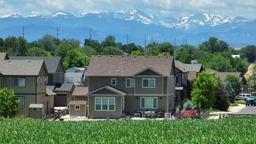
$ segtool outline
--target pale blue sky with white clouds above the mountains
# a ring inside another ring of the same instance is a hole
[[[212,13],[256,18],[255,0],[0,0],[0,15],[51,14],[58,10],[86,14],[132,9],[158,17]]]

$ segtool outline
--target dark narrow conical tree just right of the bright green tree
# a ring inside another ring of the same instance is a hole
[[[215,88],[214,108],[222,111],[226,111],[229,108],[228,92],[219,79]]]

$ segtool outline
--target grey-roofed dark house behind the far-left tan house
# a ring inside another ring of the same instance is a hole
[[[55,85],[56,83],[65,82],[65,68],[61,61],[61,57],[25,57],[14,56],[9,57],[13,60],[44,60],[46,68],[48,69],[48,76],[46,78],[47,85]]]

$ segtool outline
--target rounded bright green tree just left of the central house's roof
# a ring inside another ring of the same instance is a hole
[[[71,50],[67,52],[67,56],[64,58],[65,65],[68,64],[68,68],[71,67],[83,67],[84,65],[88,65],[90,58],[88,56],[83,55],[77,50]]]

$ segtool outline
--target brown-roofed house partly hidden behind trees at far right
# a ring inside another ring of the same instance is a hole
[[[213,69],[210,69],[210,68],[205,68],[205,71],[207,72],[214,72],[215,73],[215,76],[217,78],[219,78],[220,80],[222,80],[224,82],[224,80],[226,79],[226,76],[228,74],[231,74],[231,75],[236,75],[239,77],[239,82],[241,83],[241,93],[247,93],[248,92],[248,83],[245,79],[245,77],[243,76],[243,74],[241,72],[237,72],[237,73],[232,73],[232,72],[219,72],[219,71],[216,71],[216,70],[213,70]]]

